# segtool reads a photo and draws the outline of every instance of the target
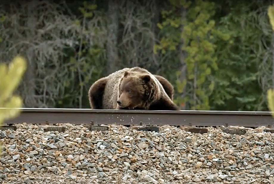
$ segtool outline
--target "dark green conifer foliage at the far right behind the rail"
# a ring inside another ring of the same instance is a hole
[[[231,39],[226,44],[223,40],[216,42],[219,70],[213,73],[216,87],[210,96],[211,109],[267,109],[265,93],[258,81],[264,72],[260,70],[262,61],[272,57],[266,48],[271,35],[265,34],[268,25],[262,26],[266,9],[261,7],[263,4],[259,2],[245,2],[220,18],[218,29],[228,33]]]

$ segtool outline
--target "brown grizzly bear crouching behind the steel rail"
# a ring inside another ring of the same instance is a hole
[[[88,91],[92,109],[179,110],[173,94],[169,81],[140,67],[118,70]]]

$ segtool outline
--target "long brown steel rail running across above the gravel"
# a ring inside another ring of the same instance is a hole
[[[0,108],[4,109],[4,108]],[[274,125],[271,112],[258,111],[144,111],[66,108],[20,108],[21,114],[5,124],[119,124],[181,126],[244,126]]]

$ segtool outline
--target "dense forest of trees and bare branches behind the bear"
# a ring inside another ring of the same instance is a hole
[[[24,107],[90,108],[91,84],[124,67],[167,78],[181,109],[268,111],[272,1],[1,1],[0,61],[28,62]]]

